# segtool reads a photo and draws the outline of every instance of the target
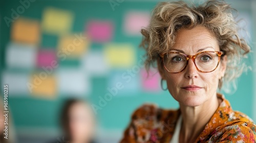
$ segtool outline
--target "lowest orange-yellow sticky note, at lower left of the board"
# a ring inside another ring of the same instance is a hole
[[[44,73],[44,74],[42,74]],[[45,71],[34,74],[28,86],[34,97],[40,98],[56,98],[57,95],[57,81],[52,75],[48,75]]]

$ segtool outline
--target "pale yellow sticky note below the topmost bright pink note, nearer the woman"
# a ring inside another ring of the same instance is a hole
[[[131,44],[110,43],[104,47],[106,61],[112,67],[129,68],[135,64],[136,55]]]

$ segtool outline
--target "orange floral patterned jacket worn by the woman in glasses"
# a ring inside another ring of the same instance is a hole
[[[256,125],[245,114],[233,111],[218,93],[222,103],[206,124],[196,142],[256,142]],[[170,142],[180,110],[165,110],[145,104],[132,115],[132,121],[120,143]]]

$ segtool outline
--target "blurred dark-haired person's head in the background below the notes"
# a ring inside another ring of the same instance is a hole
[[[60,120],[65,140],[70,143],[94,142],[95,116],[87,102],[77,99],[66,101]]]

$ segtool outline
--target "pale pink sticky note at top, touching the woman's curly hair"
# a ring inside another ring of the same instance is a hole
[[[150,13],[141,11],[127,12],[124,17],[123,28],[127,35],[141,35],[140,31],[143,27],[147,27],[150,22]]]

